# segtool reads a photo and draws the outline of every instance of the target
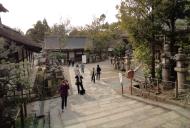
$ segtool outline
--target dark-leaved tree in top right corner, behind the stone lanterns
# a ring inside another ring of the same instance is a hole
[[[161,0],[160,6],[158,6],[155,15],[156,18],[159,19],[162,23],[162,30],[164,34],[170,39],[170,50],[171,53],[174,55],[176,52],[174,46],[176,45],[177,38],[181,40],[184,36],[180,35],[182,31],[178,32],[177,21],[183,20],[187,23],[188,26],[188,19],[190,18],[190,1]]]

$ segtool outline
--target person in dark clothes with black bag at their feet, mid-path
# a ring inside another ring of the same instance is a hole
[[[78,94],[81,94],[81,92],[84,92],[85,89],[84,89],[83,83],[82,83],[83,77],[80,74],[80,72],[78,72],[78,74],[75,76],[75,79],[76,79],[76,85],[77,85]]]

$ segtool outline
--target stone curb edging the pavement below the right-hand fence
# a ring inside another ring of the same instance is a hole
[[[140,102],[144,102],[144,103],[147,103],[147,104],[150,104],[150,105],[153,105],[153,106],[161,107],[163,109],[175,111],[176,113],[190,119],[190,109],[185,109],[185,108],[182,108],[182,107],[179,107],[179,106],[174,106],[173,104],[161,103],[161,102],[158,102],[158,101],[155,102],[155,101],[152,101],[150,99],[144,99],[142,97],[137,97],[137,96],[129,95],[129,94],[126,94],[126,93],[123,96],[128,97],[130,99],[140,101]]]

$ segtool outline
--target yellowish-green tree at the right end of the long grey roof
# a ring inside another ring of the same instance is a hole
[[[93,48],[101,57],[103,50],[107,50],[110,43],[119,34],[116,32],[116,24],[109,25],[105,22],[106,15],[102,14],[99,18],[94,18],[90,25],[86,26],[89,38],[93,41]],[[115,25],[115,26],[114,26]]]

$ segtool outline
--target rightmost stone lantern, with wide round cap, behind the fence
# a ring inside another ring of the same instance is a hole
[[[187,58],[186,55],[183,54],[182,48],[178,49],[178,54],[175,55],[176,67],[175,71],[177,72],[177,83],[178,83],[178,92],[183,92],[185,89],[185,74],[188,71],[187,68]]]

